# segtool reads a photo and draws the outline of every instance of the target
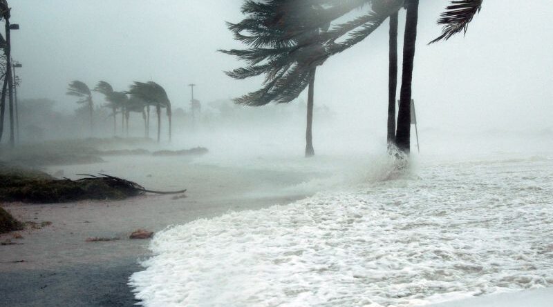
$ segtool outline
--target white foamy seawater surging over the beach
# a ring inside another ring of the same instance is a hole
[[[553,286],[553,156],[388,175],[168,228],[131,277],[135,296],[146,306],[419,306]]]

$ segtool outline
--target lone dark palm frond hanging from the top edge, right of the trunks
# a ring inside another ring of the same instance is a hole
[[[438,20],[438,24],[443,25],[442,34],[430,43],[441,40],[447,41],[459,32],[464,32],[466,34],[469,23],[482,9],[483,1],[484,0],[451,1],[451,5],[446,8],[446,11],[441,14]]]

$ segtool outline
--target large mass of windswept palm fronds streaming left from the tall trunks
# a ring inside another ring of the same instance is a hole
[[[371,9],[352,21],[330,26],[344,14],[375,3],[377,12]],[[238,57],[247,66],[225,73],[234,79],[265,75],[265,81],[260,90],[234,101],[249,106],[292,101],[309,85],[313,68],[365,39],[403,3],[403,0],[245,1],[242,12],[246,18],[227,26],[234,38],[249,48],[220,51]]]

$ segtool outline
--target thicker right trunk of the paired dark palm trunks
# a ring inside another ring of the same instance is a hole
[[[411,85],[413,81],[413,63],[415,61],[415,43],[417,41],[417,23],[419,0],[406,1],[407,17],[403,43],[402,88],[400,90],[400,108],[397,114],[397,148],[409,154],[411,146]]]

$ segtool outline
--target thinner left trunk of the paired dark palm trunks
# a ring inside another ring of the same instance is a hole
[[[388,150],[395,143],[395,93],[397,91],[397,12],[390,16],[390,65],[388,68]]]

